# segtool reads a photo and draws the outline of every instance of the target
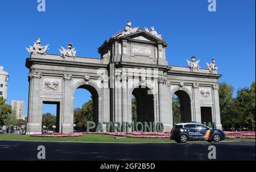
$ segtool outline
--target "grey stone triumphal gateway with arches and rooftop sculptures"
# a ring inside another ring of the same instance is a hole
[[[195,57],[188,67],[171,66],[166,60],[167,42],[154,27],[131,27],[106,40],[101,58],[76,57],[72,44],[60,55],[46,54],[48,45],[37,39],[27,48],[29,102],[27,134],[42,132],[42,106],[56,104],[58,132],[73,132],[74,93],[92,94],[93,120],[132,121],[133,96],[137,99],[137,121],[173,125],[172,97],[180,100],[181,121],[211,122],[221,128],[217,66],[214,58],[201,69]],[[103,124],[103,127],[106,127]]]

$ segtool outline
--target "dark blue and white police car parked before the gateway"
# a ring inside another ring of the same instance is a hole
[[[225,139],[225,134],[220,129],[212,129],[201,123],[175,124],[171,130],[171,140],[186,142],[188,140],[207,140],[219,142]]]

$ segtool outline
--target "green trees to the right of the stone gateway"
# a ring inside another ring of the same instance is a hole
[[[234,88],[225,82],[219,85],[221,123],[224,129],[255,127],[255,82],[250,88],[237,91],[233,98]]]

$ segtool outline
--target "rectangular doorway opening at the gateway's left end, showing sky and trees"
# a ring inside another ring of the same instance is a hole
[[[60,102],[43,101],[42,131],[60,132]]]

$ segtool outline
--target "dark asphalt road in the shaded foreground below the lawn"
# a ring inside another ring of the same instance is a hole
[[[208,146],[216,146],[216,160],[254,160],[255,141],[176,143],[82,143],[0,140],[0,160],[38,160],[39,145],[46,160],[209,160]]]

